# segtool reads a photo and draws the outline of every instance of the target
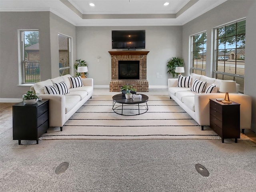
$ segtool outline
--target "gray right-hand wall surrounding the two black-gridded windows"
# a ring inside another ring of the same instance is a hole
[[[191,35],[207,32],[206,76],[213,75],[213,28],[246,17],[246,51],[245,51],[245,78],[244,94],[252,96],[252,130],[256,131],[256,88],[255,88],[255,50],[256,50],[256,1],[226,1],[220,6],[206,12],[202,16],[188,22],[182,30],[182,57],[186,69],[189,64],[189,39]],[[190,71],[186,70],[186,74]]]

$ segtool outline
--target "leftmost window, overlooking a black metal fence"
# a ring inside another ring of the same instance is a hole
[[[38,30],[22,30],[20,34],[22,84],[39,82],[39,32]]]

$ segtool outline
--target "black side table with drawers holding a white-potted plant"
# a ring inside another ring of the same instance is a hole
[[[24,102],[12,106],[13,140],[36,140],[49,128],[49,100],[43,99],[36,104]]]

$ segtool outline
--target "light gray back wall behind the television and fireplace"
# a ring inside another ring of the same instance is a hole
[[[88,62],[88,78],[96,86],[109,86],[111,80],[112,30],[146,30],[147,80],[149,86],[167,86],[167,61],[182,56],[182,26],[76,27],[77,59]],[[100,62],[97,57],[100,56]],[[156,78],[156,72],[162,78]]]

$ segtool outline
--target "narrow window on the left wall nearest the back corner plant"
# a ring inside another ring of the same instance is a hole
[[[71,38],[62,34],[58,34],[59,42],[59,72],[60,76],[70,74],[70,42]]]

